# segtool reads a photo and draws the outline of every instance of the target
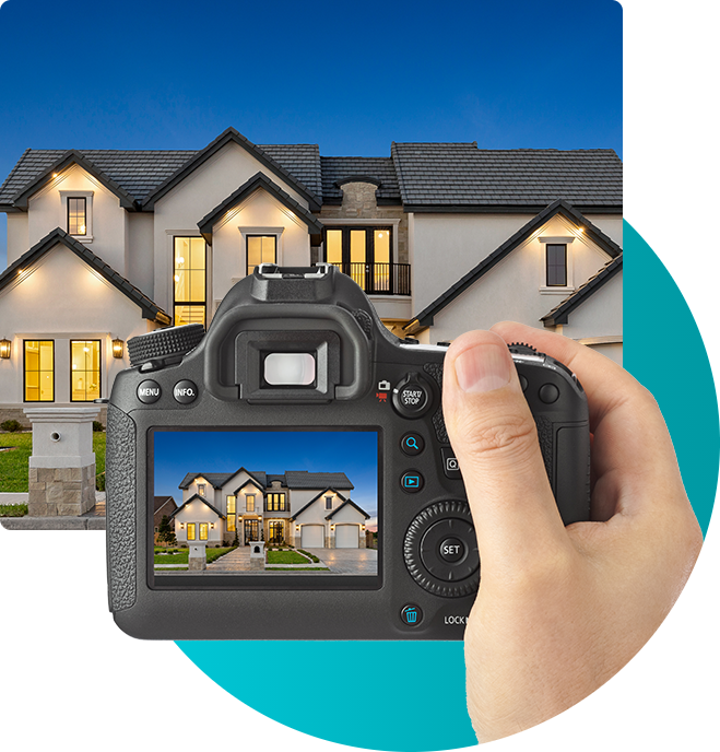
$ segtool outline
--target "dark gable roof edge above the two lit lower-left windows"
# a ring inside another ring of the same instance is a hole
[[[135,287],[132,283],[128,282],[128,280],[115,271],[109,263],[105,263],[99,256],[93,254],[93,251],[82,243],[75,240],[74,237],[68,235],[68,233],[66,233],[63,230],[60,230],[60,227],[56,227],[52,232],[48,233],[28,251],[15,259],[15,261],[13,261],[0,274],[0,290],[17,279],[19,272],[35,263],[48,250],[55,248],[58,243],[72,250],[80,259],[98,272],[114,287],[117,287],[117,290],[129,297],[135,305],[140,306],[143,318],[157,321],[162,325],[168,325],[170,322],[170,317],[158,305],[153,303],[147,295]]]

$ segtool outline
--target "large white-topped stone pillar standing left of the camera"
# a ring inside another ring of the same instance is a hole
[[[80,516],[95,506],[93,420],[99,408],[25,408],[33,426],[31,517]]]

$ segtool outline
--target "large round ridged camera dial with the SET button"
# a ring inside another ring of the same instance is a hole
[[[480,585],[480,554],[468,502],[435,502],[408,528],[405,566],[425,590],[444,598],[471,596]]]

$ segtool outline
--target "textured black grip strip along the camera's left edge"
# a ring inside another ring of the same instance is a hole
[[[105,479],[107,490],[107,583],[110,612],[131,608],[135,587],[135,424],[116,408],[107,407]]]

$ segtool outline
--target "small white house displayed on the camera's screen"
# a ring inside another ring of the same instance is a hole
[[[180,545],[240,545],[263,540],[300,549],[364,549],[369,515],[350,498],[344,472],[239,468],[233,473],[189,472],[182,504],[172,514]]]

